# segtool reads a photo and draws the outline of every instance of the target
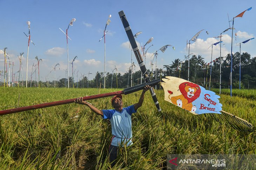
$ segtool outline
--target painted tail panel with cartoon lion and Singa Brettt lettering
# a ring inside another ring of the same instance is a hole
[[[221,114],[222,104],[213,91],[178,77],[166,76],[162,79],[164,100],[179,106],[193,114]]]

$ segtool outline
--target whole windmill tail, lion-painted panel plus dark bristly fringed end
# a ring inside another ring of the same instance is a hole
[[[253,132],[254,127],[247,120],[222,110],[220,96],[190,81],[178,77],[166,76],[162,79],[164,100],[193,114],[209,113],[216,121],[233,127],[239,131]],[[214,114],[217,113],[217,114]]]

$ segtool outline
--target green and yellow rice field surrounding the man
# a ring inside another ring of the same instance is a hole
[[[0,110],[119,90],[0,87]],[[124,106],[137,103],[140,94],[124,96]],[[256,154],[256,90],[234,90],[233,97],[222,90],[220,98],[224,111],[254,126],[251,133],[220,124],[207,114],[186,112],[164,101],[163,90],[156,94],[162,112],[156,111],[147,92],[132,116],[134,145],[121,148],[112,169],[165,169],[167,154]],[[112,109],[110,98],[89,102]],[[0,169],[110,169],[111,137],[109,120],[75,103],[4,115],[0,117]]]

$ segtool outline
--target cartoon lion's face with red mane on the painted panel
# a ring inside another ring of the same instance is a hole
[[[188,100],[188,103],[191,103],[197,99],[201,93],[200,87],[191,82],[181,83],[179,89],[181,94]]]

